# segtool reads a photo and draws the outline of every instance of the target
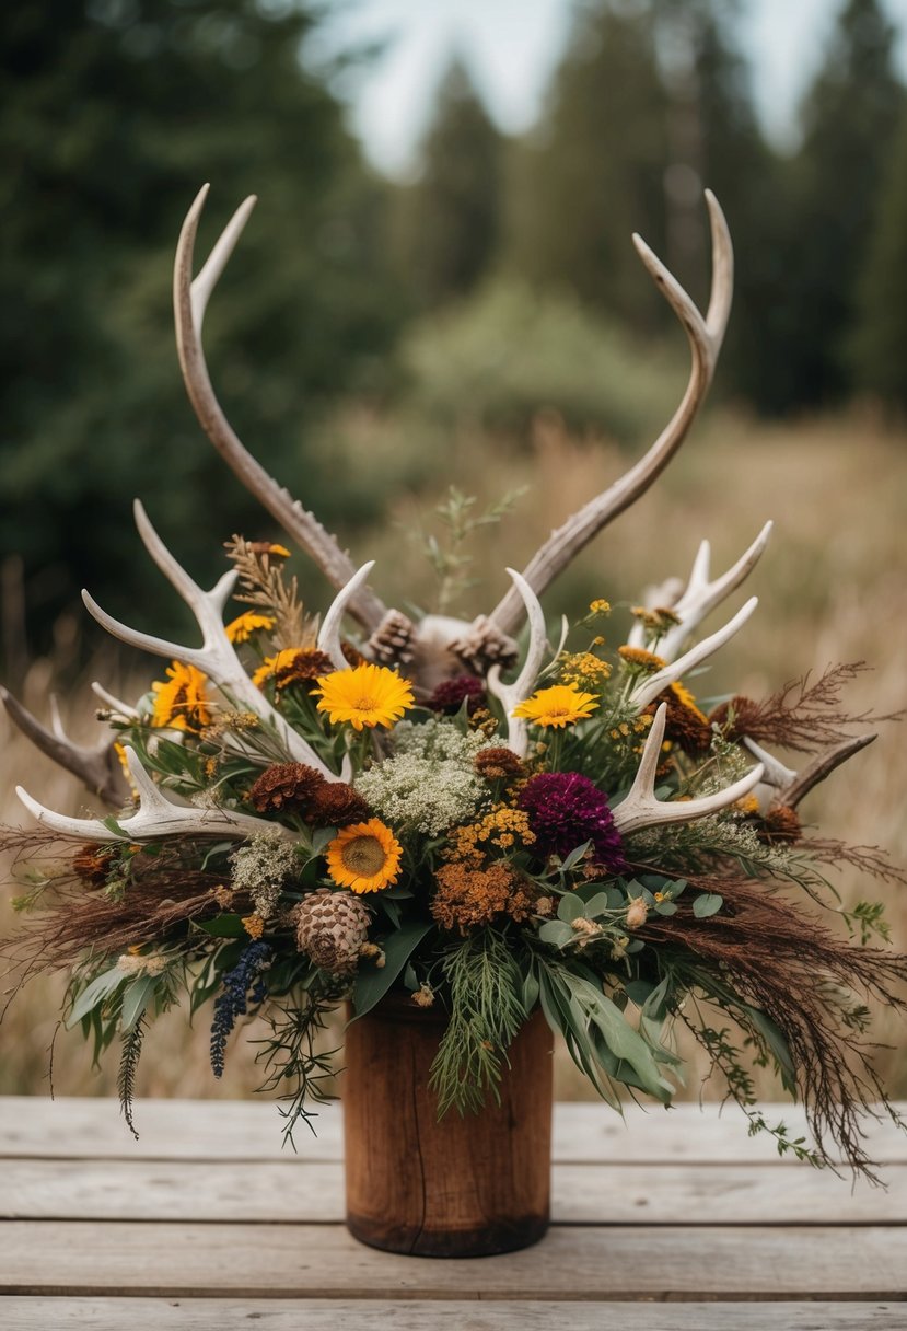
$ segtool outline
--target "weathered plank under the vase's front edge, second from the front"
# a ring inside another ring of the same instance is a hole
[[[556,1227],[507,1256],[376,1252],[343,1226],[8,1221],[5,1294],[153,1298],[907,1299],[904,1236],[876,1226],[791,1231]]]

